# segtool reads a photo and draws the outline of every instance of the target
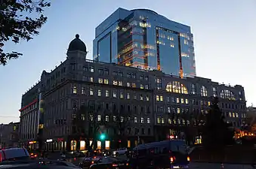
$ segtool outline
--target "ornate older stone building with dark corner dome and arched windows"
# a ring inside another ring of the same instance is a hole
[[[212,97],[220,98],[233,127],[245,118],[242,86],[91,61],[86,54],[85,44],[76,35],[66,60],[53,71],[42,72],[41,96],[38,92],[36,98],[44,115],[38,124],[43,124],[46,149],[86,149],[93,139],[99,149],[170,137],[200,143],[197,126],[202,125]],[[106,138],[100,140],[100,133]]]

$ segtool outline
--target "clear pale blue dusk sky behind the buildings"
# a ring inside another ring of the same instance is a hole
[[[196,73],[219,83],[245,87],[247,105],[256,105],[256,1],[254,0],[76,0],[54,1],[48,23],[32,41],[8,43],[6,51],[23,53],[0,66],[0,123],[19,120],[21,95],[66,58],[69,42],[79,33],[92,58],[94,28],[117,8],[149,8],[191,26]]]

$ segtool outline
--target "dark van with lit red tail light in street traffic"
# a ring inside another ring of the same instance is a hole
[[[188,168],[189,147],[184,140],[140,144],[131,155],[132,168]]]

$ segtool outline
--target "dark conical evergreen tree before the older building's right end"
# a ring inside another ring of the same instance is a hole
[[[234,131],[225,122],[224,115],[218,107],[218,98],[211,102],[211,110],[205,116],[205,125],[202,128],[202,143],[213,149],[223,149],[227,144],[233,143]]]

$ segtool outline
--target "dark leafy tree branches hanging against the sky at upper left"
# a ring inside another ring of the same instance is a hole
[[[6,65],[9,59],[17,59],[22,53],[5,53],[3,47],[11,39],[15,44],[20,40],[29,41],[33,35],[39,35],[39,29],[47,21],[42,12],[51,3],[45,0],[4,0],[0,2],[0,65]],[[39,17],[29,17],[32,13]]]

